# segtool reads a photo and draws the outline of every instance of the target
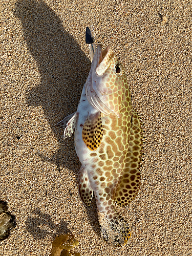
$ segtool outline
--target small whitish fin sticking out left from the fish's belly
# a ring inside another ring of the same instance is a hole
[[[65,117],[62,121],[57,123],[57,126],[65,129],[63,139],[71,137],[76,126],[77,118],[78,112],[74,112],[73,114]]]

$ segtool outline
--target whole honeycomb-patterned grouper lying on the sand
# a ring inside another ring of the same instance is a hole
[[[89,30],[88,30],[89,32]],[[91,38],[91,37],[90,37]],[[142,158],[142,122],[132,107],[125,69],[112,47],[88,40],[91,69],[77,111],[60,121],[63,138],[74,132],[81,167],[78,194],[90,206],[97,204],[102,239],[120,247],[131,237],[127,221],[115,209],[126,206],[139,192]]]

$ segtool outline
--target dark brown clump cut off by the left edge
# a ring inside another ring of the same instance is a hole
[[[15,218],[7,212],[7,203],[0,201],[0,241],[9,237],[10,229],[15,225]]]

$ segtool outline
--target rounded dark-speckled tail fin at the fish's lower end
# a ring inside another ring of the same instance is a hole
[[[102,239],[110,246],[120,247],[127,243],[131,237],[131,228],[121,216],[109,219],[98,211],[98,220]]]

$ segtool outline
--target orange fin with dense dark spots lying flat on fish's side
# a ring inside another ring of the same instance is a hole
[[[103,128],[100,112],[89,114],[82,127],[82,139],[87,147],[96,150],[103,137]]]

